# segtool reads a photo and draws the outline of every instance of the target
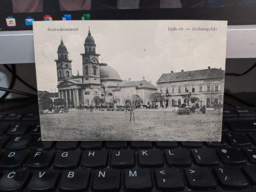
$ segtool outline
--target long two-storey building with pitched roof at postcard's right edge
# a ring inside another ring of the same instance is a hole
[[[223,104],[225,70],[208,67],[204,70],[171,72],[157,81],[157,92],[164,95],[163,105],[191,105],[191,101],[213,108]]]

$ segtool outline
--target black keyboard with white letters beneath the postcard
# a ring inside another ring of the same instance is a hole
[[[2,113],[0,191],[255,191],[255,110],[223,110],[220,142],[42,141],[36,113]]]

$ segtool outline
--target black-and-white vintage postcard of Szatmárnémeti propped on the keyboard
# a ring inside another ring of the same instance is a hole
[[[33,31],[42,140],[221,140],[227,21],[35,21]]]

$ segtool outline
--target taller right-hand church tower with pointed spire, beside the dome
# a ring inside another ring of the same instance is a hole
[[[90,28],[88,36],[84,41],[83,57],[83,78],[84,83],[100,84],[99,56],[96,53],[96,44],[91,35]]]

